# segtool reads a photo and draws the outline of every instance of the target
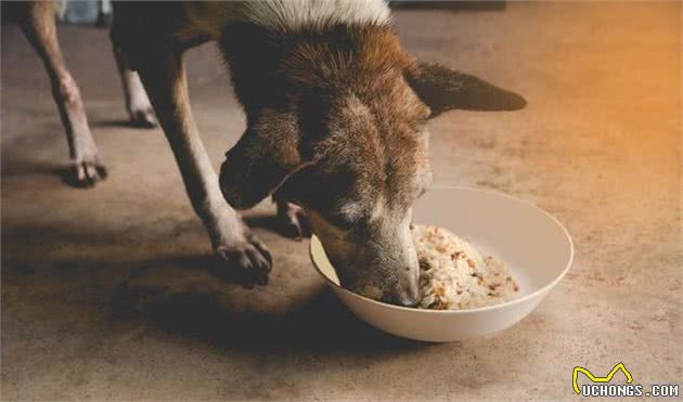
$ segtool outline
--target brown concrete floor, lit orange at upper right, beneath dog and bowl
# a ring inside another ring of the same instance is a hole
[[[437,183],[495,189],[556,215],[567,277],[520,324],[424,345],[359,323],[307,242],[249,213],[270,285],[225,285],[160,130],[126,127],[107,33],[60,31],[109,167],[62,183],[47,77],[2,29],[2,399],[572,399],[571,372],[623,362],[636,384],[683,382],[681,3],[512,3],[402,10],[415,55],[529,101],[431,122]],[[244,127],[211,46],[191,51],[196,119],[216,165]]]

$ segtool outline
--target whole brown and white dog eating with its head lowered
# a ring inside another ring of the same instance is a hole
[[[27,3],[22,27],[50,75],[76,180],[93,184],[105,168],[51,5]],[[272,196],[299,233],[310,219],[346,288],[414,306],[411,206],[430,182],[428,119],[526,105],[515,92],[411,57],[382,0],[120,2],[111,37],[131,121],[158,119],[225,272],[247,286],[268,282],[272,259],[236,210]],[[207,41],[223,54],[247,120],[220,176],[194,124],[182,63]]]

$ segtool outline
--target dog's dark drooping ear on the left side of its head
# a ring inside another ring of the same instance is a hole
[[[267,109],[248,121],[220,169],[225,200],[235,209],[250,208],[278,190],[287,177],[311,165],[313,158],[299,139],[295,115]]]

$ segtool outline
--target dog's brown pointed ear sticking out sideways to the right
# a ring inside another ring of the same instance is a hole
[[[517,111],[527,101],[477,77],[438,64],[415,63],[404,76],[417,96],[431,109],[429,117],[446,111]]]

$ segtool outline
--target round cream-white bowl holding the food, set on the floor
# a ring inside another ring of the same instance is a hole
[[[539,304],[574,259],[574,244],[562,223],[537,206],[501,193],[430,189],[413,208],[413,221],[447,228],[482,254],[504,261],[519,284],[519,295],[502,304],[455,311],[383,303],[339,286],[322,244],[313,236],[313,265],[342,302],[368,324],[404,338],[449,342],[505,329]]]

